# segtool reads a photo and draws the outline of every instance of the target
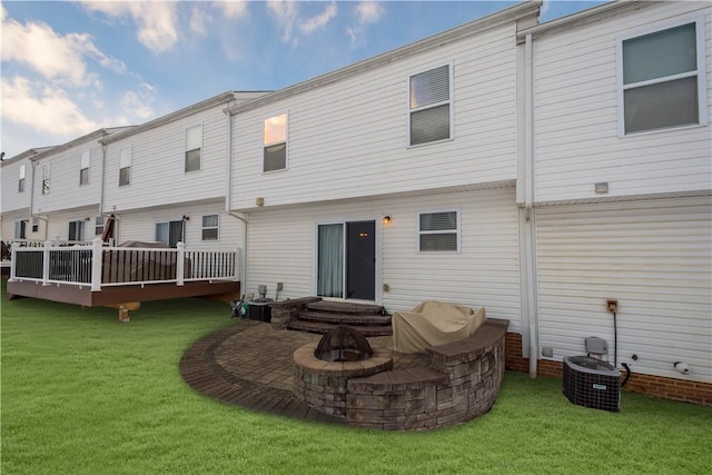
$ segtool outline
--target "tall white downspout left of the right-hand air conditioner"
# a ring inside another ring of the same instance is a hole
[[[536,365],[538,359],[538,310],[536,304],[536,259],[535,259],[535,210],[534,210],[534,59],[533,59],[532,34],[526,34],[524,44],[524,82],[525,82],[525,165],[524,179],[525,191],[525,249],[526,249],[526,273],[530,284],[528,307],[530,307],[530,377],[536,377]]]

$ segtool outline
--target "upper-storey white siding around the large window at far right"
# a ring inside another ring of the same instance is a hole
[[[619,137],[615,50],[621,36],[704,14],[712,99],[711,12],[709,2],[647,2],[534,40],[535,200],[593,198],[599,181],[609,197],[712,188],[709,125]]]

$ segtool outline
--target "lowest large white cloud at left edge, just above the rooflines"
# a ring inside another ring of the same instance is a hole
[[[21,77],[2,78],[0,95],[3,119],[49,136],[81,136],[99,128],[60,88],[32,83]]]

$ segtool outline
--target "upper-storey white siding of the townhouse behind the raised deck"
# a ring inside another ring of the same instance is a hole
[[[220,105],[107,147],[105,211],[225,197],[228,121]],[[200,171],[185,172],[186,129],[202,125]],[[130,147],[130,185],[119,187],[119,154]],[[116,207],[116,208],[115,208]]]

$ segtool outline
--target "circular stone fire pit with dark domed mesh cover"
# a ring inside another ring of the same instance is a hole
[[[342,334],[336,334],[336,331],[342,331]],[[295,397],[325,414],[338,417],[346,417],[348,379],[370,376],[393,368],[390,350],[386,348],[370,348],[368,346],[372,355],[366,354],[360,360],[345,360],[356,359],[353,356],[354,345],[352,344],[340,349],[334,347],[325,349],[324,342],[329,338],[334,342],[352,342],[353,336],[349,335],[349,331],[345,331],[346,337],[344,337],[344,331],[343,328],[339,328],[325,335],[322,342],[305,345],[294,353],[293,386]],[[353,331],[357,333],[357,330]],[[360,334],[358,336],[364,338]],[[366,339],[364,338],[364,340]],[[336,359],[342,360],[319,359],[315,354],[319,345],[323,346],[320,353],[326,358],[334,359],[334,355],[340,355],[343,357]],[[367,342],[366,345],[368,345]]]

